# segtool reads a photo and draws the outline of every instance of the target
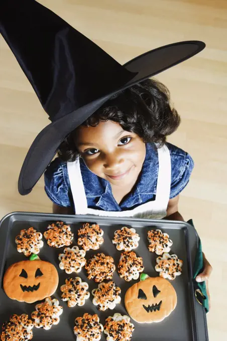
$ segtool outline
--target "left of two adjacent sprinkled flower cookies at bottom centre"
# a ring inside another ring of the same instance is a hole
[[[99,341],[103,325],[99,323],[97,314],[83,314],[75,319],[74,334],[76,341]]]

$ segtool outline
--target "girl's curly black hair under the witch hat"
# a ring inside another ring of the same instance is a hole
[[[170,106],[169,90],[156,79],[147,79],[111,97],[82,125],[96,126],[107,120],[118,122],[124,130],[136,133],[145,143],[156,142],[159,146],[180,124],[180,116]],[[73,133],[59,146],[58,156],[63,161],[74,161],[78,155]]]

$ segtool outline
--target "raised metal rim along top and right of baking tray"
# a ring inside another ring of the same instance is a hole
[[[196,306],[195,306],[195,297],[194,297],[194,289],[193,289],[193,282],[192,282],[192,258],[191,258],[191,250],[190,250],[190,243],[189,243],[189,238],[188,238],[188,229],[193,229],[194,233],[196,235],[196,241],[197,241],[197,231],[195,230],[195,228],[190,225],[187,222],[184,221],[175,221],[175,220],[158,220],[158,219],[144,219],[144,218],[134,218],[134,217],[104,217],[104,216],[94,216],[94,215],[59,215],[59,214],[54,214],[54,213],[40,213],[40,212],[25,212],[25,211],[14,211],[11,213],[8,213],[7,215],[5,215],[1,220],[0,220],[0,229],[3,225],[3,223],[6,220],[11,219],[11,217],[13,216],[31,216],[31,217],[35,217],[35,216],[40,216],[43,218],[48,218],[48,220],[59,220],[59,217],[61,217],[61,220],[65,220],[65,219],[74,219],[76,218],[81,218],[81,219],[85,219],[87,220],[87,217],[93,217],[96,218],[97,220],[101,220],[101,221],[108,221],[108,222],[115,222],[117,223],[118,221],[122,221],[124,220],[125,222],[132,222],[132,221],[137,221],[139,223],[149,223],[149,224],[157,224],[157,223],[165,223],[167,225],[175,225],[177,222],[177,225],[182,225],[182,227],[185,228],[186,231],[186,253],[188,254],[189,260],[187,261],[187,265],[188,265],[188,271],[189,271],[189,290],[190,290],[190,296],[191,296],[191,309],[193,311],[193,313],[191,314],[191,324],[192,324],[192,336],[193,336],[193,341],[200,341],[198,338],[198,328],[197,328],[197,314],[196,314]],[[2,261],[5,259],[5,252],[4,252],[4,257],[2,259]],[[2,263],[2,261],[0,263]],[[193,260],[194,262],[194,260]],[[3,269],[2,269],[3,270]],[[2,278],[2,271],[0,269],[0,277]],[[206,314],[203,308],[203,312],[204,312],[204,323],[205,323],[205,334],[206,334],[206,341],[208,341],[208,329],[207,329],[207,319],[206,319]]]

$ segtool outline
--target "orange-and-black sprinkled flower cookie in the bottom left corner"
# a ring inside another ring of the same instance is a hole
[[[27,314],[12,315],[8,322],[3,323],[2,341],[28,341],[33,337],[33,321]]]

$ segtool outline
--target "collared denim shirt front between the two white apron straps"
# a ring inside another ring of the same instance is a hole
[[[122,211],[123,209],[140,205],[146,199],[149,200],[156,194],[158,166],[156,145],[154,143],[146,143],[146,156],[135,190],[119,206],[113,198],[110,183],[94,175],[87,168],[83,160],[80,159],[83,184],[89,184],[89,187],[84,186],[86,197],[97,198],[96,206],[106,211],[109,211],[109,208],[111,208],[111,211]]]

